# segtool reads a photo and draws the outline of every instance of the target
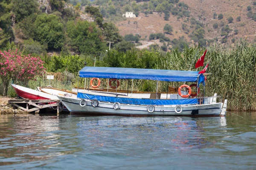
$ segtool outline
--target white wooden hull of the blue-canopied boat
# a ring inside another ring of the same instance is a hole
[[[154,111],[148,112],[148,105],[120,104],[119,109],[113,108],[113,102],[100,102],[97,107],[92,106],[92,100],[86,99],[87,105],[81,107],[81,99],[58,96],[61,102],[73,115],[120,115],[120,116],[225,116],[221,112],[222,103],[204,105],[179,105],[180,113],[175,111],[177,105],[154,105]],[[179,111],[178,111],[179,112]]]

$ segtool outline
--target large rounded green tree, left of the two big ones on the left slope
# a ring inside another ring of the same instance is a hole
[[[63,24],[52,14],[38,15],[35,20],[35,40],[49,48],[60,49],[64,42]]]

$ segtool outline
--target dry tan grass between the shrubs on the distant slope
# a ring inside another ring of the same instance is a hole
[[[190,19],[194,17],[196,20],[200,20],[204,23],[205,38],[213,39],[218,37],[219,42],[221,40],[221,27],[214,29],[212,26],[214,23],[220,25],[224,22],[225,25],[229,25],[231,29],[239,30],[239,34],[235,35],[232,31],[228,35],[228,42],[235,38],[239,40],[240,38],[247,38],[249,42],[253,42],[256,38],[256,22],[247,17],[247,6],[252,6],[252,10],[255,12],[256,7],[252,5],[251,0],[237,1],[237,0],[183,0],[182,2],[189,5]],[[241,11],[241,12],[240,12]],[[213,19],[213,13],[223,14],[224,18],[222,20]],[[237,22],[236,17],[241,13],[241,21]],[[160,15],[157,13],[149,14],[145,17],[145,14],[140,13],[139,17],[127,19],[125,21],[119,21],[116,26],[119,28],[120,34],[124,36],[125,34],[140,34],[142,38],[145,36],[149,37],[152,33],[163,33],[163,27],[166,23],[173,27],[173,34],[166,34],[171,40],[174,38],[184,36],[185,39],[190,42],[188,34],[182,30],[182,24],[185,23],[184,19],[177,20],[177,16],[171,14],[169,21],[163,19],[164,14]],[[228,23],[227,18],[233,17],[233,23]],[[201,19],[200,19],[201,18]],[[128,21],[130,20],[130,24]],[[134,24],[137,21],[137,24]],[[185,23],[190,26],[190,21]],[[189,34],[192,33],[194,28],[189,28]],[[177,33],[176,33],[177,31]]]

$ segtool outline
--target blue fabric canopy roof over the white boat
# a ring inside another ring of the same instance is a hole
[[[143,68],[84,67],[80,77],[110,79],[150,79],[169,82],[196,82],[198,77],[204,82],[204,75],[198,71],[157,70]]]

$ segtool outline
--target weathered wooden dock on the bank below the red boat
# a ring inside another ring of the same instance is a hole
[[[8,103],[22,111],[38,114],[42,109],[55,110],[57,115],[63,111],[63,104],[59,100],[30,100],[30,99],[15,99],[9,100]]]

